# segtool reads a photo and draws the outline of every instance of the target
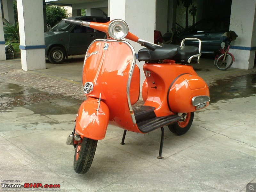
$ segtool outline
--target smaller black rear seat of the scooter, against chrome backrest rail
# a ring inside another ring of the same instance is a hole
[[[198,47],[182,46],[182,47],[179,47],[178,53],[176,55],[174,55],[174,57],[172,59],[175,61],[182,62],[182,63],[183,62],[187,63],[189,57],[191,57],[192,55],[196,55],[196,54],[199,54]],[[191,61],[197,63],[197,57],[193,58]]]

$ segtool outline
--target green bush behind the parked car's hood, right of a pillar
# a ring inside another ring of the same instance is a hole
[[[66,17],[68,17],[68,13],[64,7],[46,5],[46,21],[49,27],[53,27],[55,24]]]

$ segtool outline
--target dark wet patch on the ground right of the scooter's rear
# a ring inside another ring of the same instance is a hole
[[[209,89],[211,103],[253,96],[256,94],[256,74],[218,79]]]

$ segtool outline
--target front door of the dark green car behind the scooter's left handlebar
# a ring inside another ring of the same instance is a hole
[[[92,18],[81,18],[83,21],[93,22]],[[97,38],[96,30],[84,27],[80,25],[75,25],[74,28],[69,33],[69,50],[70,55],[85,54],[89,45],[94,39]]]

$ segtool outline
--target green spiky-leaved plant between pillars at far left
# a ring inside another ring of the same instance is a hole
[[[4,40],[5,41],[20,41],[19,24],[5,24],[4,26]]]

